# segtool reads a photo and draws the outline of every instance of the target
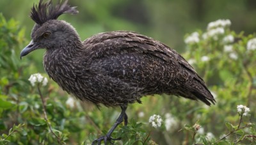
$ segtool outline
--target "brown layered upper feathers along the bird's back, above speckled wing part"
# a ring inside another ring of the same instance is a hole
[[[134,32],[104,32],[86,39],[83,44],[86,46],[86,52],[90,53],[90,60],[113,55],[142,53],[165,62],[180,64],[188,71],[196,74],[195,69],[175,50],[159,41]],[[201,78],[200,81],[202,81]]]

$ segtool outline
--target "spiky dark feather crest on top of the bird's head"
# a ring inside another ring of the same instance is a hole
[[[56,5],[52,4],[52,0],[45,3],[43,1],[44,0],[40,0],[38,6],[34,4],[33,8],[31,8],[30,17],[38,25],[42,25],[48,20],[56,20],[63,13],[78,13],[76,6],[71,7],[67,4],[68,0],[66,0],[63,4],[61,4],[61,0],[58,0]]]

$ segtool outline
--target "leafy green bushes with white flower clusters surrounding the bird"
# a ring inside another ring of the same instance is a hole
[[[256,34],[232,31],[230,25],[219,20],[184,38],[182,55],[204,78],[217,104],[143,97],[143,104],[128,107],[129,124],[115,130],[113,137],[122,137],[115,144],[256,143]],[[63,92],[42,70],[42,57],[36,55],[42,51],[20,60],[29,41],[25,34],[19,22],[0,14],[0,144],[90,144],[106,134],[120,108],[98,109]],[[31,85],[28,79],[36,72],[48,83],[37,79]],[[154,114],[161,116],[161,123],[155,120],[161,126],[148,122]]]

